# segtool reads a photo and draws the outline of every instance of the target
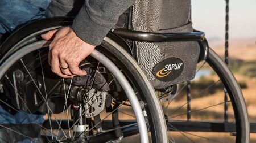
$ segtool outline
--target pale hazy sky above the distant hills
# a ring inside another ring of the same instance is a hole
[[[225,0],[192,0],[193,28],[209,39],[225,37]],[[229,1],[229,37],[256,38],[256,0]]]

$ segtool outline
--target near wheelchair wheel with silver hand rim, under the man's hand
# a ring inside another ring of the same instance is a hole
[[[49,42],[38,37],[71,21],[36,21],[2,45],[0,91],[5,99],[0,99],[1,106],[11,115],[23,115],[34,126],[24,131],[16,127],[23,125],[20,120],[0,124],[6,131],[1,142],[126,142],[131,136],[138,136],[133,142],[148,142],[147,138],[168,142],[155,90],[130,54],[112,38],[105,37],[81,62],[80,68],[88,75],[61,79],[51,72]],[[38,119],[40,114],[46,114],[44,122]]]

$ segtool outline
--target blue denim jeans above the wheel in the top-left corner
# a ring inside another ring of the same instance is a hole
[[[44,10],[51,0],[1,0],[0,34],[12,33],[32,20],[44,18]]]

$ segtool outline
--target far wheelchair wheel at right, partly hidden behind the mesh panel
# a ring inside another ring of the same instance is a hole
[[[195,79],[158,94],[168,119],[170,142],[249,142],[250,125],[240,85],[212,49],[208,59],[197,65]]]

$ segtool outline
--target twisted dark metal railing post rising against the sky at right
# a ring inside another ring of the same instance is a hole
[[[229,0],[226,0],[226,25],[225,25],[225,63],[229,64]],[[224,120],[228,121],[228,93],[224,89]]]

